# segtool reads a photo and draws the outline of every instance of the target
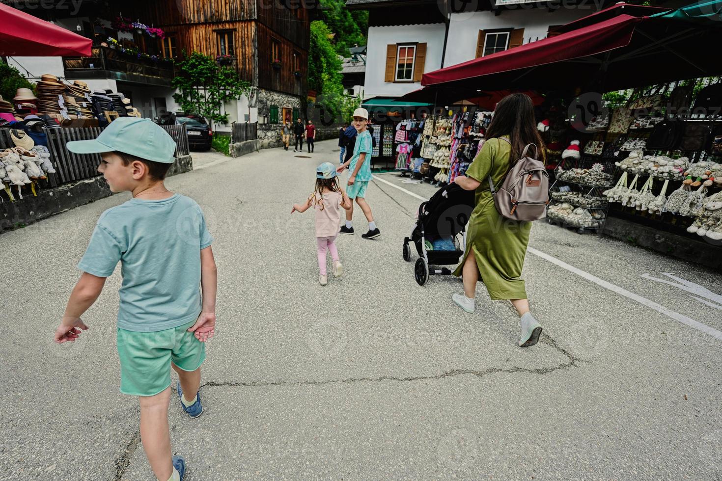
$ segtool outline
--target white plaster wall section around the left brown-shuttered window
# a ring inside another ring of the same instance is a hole
[[[364,99],[371,97],[401,97],[421,88],[421,82],[394,84],[384,81],[386,75],[386,45],[390,43],[426,43],[424,72],[439,69],[444,45],[444,24],[397,25],[369,27],[366,48],[366,78]],[[474,40],[476,45],[476,40]]]

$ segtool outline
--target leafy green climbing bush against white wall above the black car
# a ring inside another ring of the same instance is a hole
[[[173,87],[178,89],[173,99],[183,112],[201,115],[216,123],[228,122],[228,114],[221,113],[225,102],[238,100],[251,91],[251,84],[241,80],[238,72],[219,66],[212,57],[199,52],[176,63]]]

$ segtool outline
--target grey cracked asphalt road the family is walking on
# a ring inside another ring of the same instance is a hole
[[[537,222],[524,277],[544,335],[521,349],[482,285],[476,314],[456,278],[417,286],[401,245],[434,188],[388,173],[367,192],[382,236],[362,239],[357,211],[344,275],[320,286],[313,213],[290,210],[336,149],[199,154],[168,180],[204,208],[219,268],[204,415],[175,393],[170,409],[188,480],[722,479],[720,273]],[[154,479],[118,392],[119,268],[82,339],[52,343],[97,217],[128,198],[0,235],[1,480]]]

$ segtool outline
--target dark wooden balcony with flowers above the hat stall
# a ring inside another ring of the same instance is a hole
[[[65,78],[114,79],[136,84],[170,87],[173,63],[154,61],[110,47],[93,47],[90,57],[63,57]]]

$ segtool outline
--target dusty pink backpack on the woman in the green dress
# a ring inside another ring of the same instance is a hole
[[[511,144],[508,138],[500,138]],[[506,219],[536,221],[547,215],[549,174],[544,162],[526,155],[531,146],[534,146],[534,157],[539,156],[536,144],[527,144],[521,153],[521,159],[516,161],[498,191],[494,188],[491,174],[489,175],[494,205],[497,212]],[[493,159],[491,172],[494,172]]]

